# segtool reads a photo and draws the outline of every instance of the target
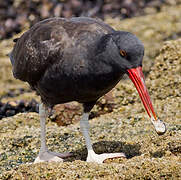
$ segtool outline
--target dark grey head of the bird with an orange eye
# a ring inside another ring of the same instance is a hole
[[[127,73],[128,69],[142,66],[144,46],[142,42],[132,33],[115,31],[105,35],[99,43],[99,50],[105,52],[104,58],[107,61],[113,60],[119,64],[122,72]],[[108,60],[109,59],[109,60]]]

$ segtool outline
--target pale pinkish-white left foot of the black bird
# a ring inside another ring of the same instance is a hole
[[[40,152],[34,163],[40,162],[63,162],[62,158],[71,156],[71,153],[56,153],[51,151]]]

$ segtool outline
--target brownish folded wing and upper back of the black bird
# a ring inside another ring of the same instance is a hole
[[[17,40],[11,53],[13,74],[33,86],[50,66],[61,63],[67,49],[77,44],[85,47],[97,34],[111,32],[111,27],[91,18],[41,21]]]

